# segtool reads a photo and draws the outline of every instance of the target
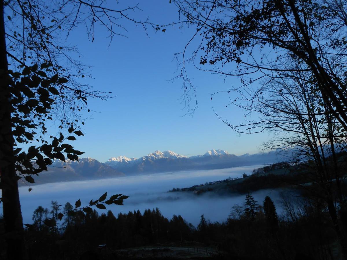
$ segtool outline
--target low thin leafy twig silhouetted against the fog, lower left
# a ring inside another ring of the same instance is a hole
[[[85,213],[91,214],[91,213],[93,213],[93,209],[90,206],[95,206],[98,209],[107,209],[105,204],[106,205],[112,205],[112,204],[124,205],[123,201],[125,199],[129,198],[129,196],[126,196],[126,195],[123,195],[123,194],[114,194],[108,200],[106,200],[106,198],[107,198],[107,192],[102,194],[99,199],[97,199],[95,201],[91,200],[89,202],[89,205],[88,206],[84,206],[84,207],[81,207],[81,200],[78,199],[75,202],[75,209],[71,209],[71,210],[66,211],[64,213],[59,212],[59,213],[57,213],[55,215],[53,214],[53,217],[46,218],[46,219],[42,220],[40,223],[24,224],[24,225],[26,227],[32,227],[34,225],[38,225],[38,224],[43,223],[43,224],[45,224],[48,227],[55,228],[57,226],[57,219],[62,220],[64,215],[74,216],[76,214],[77,210],[83,210]],[[61,205],[58,205],[58,206],[61,206]]]

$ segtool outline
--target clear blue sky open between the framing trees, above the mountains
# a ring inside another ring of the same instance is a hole
[[[169,1],[140,1],[139,7],[143,11],[134,16],[149,16],[154,23],[178,18]],[[155,150],[188,156],[210,149],[236,155],[260,151],[267,133],[239,137],[212,110],[232,122],[243,119],[242,110],[226,107],[233,94],[220,94],[210,100],[211,93],[237,84],[237,78],[224,81],[223,77],[188,66],[189,78],[197,88],[198,108],[193,116],[183,116],[185,110],[179,100],[182,82],[170,79],[178,75],[174,53],[184,49],[194,28],[168,27],[165,33],[150,29],[147,37],[141,27],[125,25],[128,37],[115,37],[109,47],[102,28],[96,30],[94,42],[88,41],[83,26],[75,29],[67,41],[76,44],[83,54],[81,61],[92,66],[94,79],[83,82],[116,96],[108,101],[89,101],[93,112],[84,125],[85,136],[74,141],[76,148],[85,151],[83,157],[104,162],[119,155],[138,158]]]

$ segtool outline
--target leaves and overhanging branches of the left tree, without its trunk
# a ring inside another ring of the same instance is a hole
[[[90,26],[87,31],[92,40],[98,24],[107,29],[110,39],[124,36],[119,32],[125,30],[120,18],[142,25],[145,32],[147,26],[159,28],[148,19],[130,17],[128,12],[140,10],[137,6],[113,10],[104,4],[89,0],[4,2],[9,70],[1,73],[7,78],[12,104],[11,126],[18,147],[14,151],[16,171],[30,183],[34,182],[32,175],[47,170],[53,159],[78,160],[83,152],[65,141],[83,135],[83,111],[90,112],[87,98],[109,98],[79,82],[89,76],[86,66],[75,59],[76,47],[64,45],[62,38],[79,24]],[[58,135],[48,133],[48,121],[60,121]],[[24,151],[23,147],[34,142],[36,145]]]

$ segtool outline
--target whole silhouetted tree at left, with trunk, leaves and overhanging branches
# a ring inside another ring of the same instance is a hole
[[[87,26],[92,41],[98,25],[104,26],[110,40],[124,36],[121,21],[145,30],[155,28],[129,15],[139,10],[137,6],[117,10],[105,4],[99,0],[0,1],[1,201],[5,231],[11,234],[6,235],[11,259],[26,258],[18,179],[33,183],[33,176],[47,170],[53,159],[78,160],[83,152],[66,141],[83,135],[79,128],[84,124],[82,112],[90,111],[88,98],[108,98],[79,82],[89,75],[72,57],[76,47],[64,46],[66,38],[80,24]],[[59,122],[57,136],[48,133],[46,123],[51,120]]]

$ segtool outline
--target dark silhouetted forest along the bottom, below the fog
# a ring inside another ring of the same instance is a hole
[[[247,193],[243,205],[231,207],[225,222],[210,222],[202,215],[200,223],[194,226],[180,215],[168,219],[158,208],[115,216],[111,210],[102,214],[96,210],[86,213],[74,210],[69,202],[63,207],[52,201],[50,209],[41,206],[35,209],[34,223],[25,230],[25,240],[29,259],[78,259],[86,252],[113,257],[119,249],[180,246],[182,242],[187,245],[199,242],[216,248],[221,257],[236,259],[336,259],[341,256],[341,250],[336,250],[338,236],[323,201],[283,195],[281,205],[282,212],[278,214],[270,197],[258,203]],[[69,214],[59,225],[44,225],[44,219],[56,215],[60,207]],[[100,251],[100,248],[109,251]]]

